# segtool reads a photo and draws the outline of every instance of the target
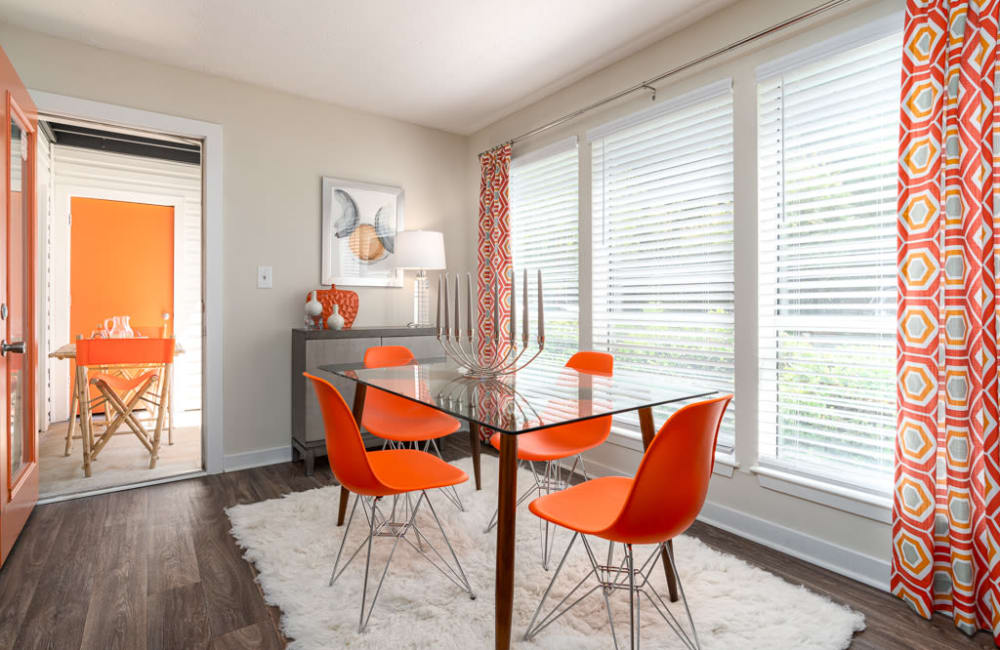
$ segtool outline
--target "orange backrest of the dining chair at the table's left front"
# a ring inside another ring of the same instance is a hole
[[[368,463],[368,452],[351,409],[330,382],[308,372],[302,374],[312,380],[316,389],[326,429],[326,455],[333,475],[351,492],[371,495],[383,486]]]

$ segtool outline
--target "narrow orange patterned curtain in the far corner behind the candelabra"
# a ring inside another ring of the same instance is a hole
[[[479,183],[478,304],[476,323],[481,358],[507,353],[510,329],[510,143],[480,154],[482,178]],[[497,280],[500,346],[493,346],[493,280]]]

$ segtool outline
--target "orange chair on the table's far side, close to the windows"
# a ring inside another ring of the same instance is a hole
[[[593,351],[577,352],[566,362],[567,368],[604,376],[609,376],[614,372],[614,365],[615,358],[612,355]],[[586,465],[583,463],[583,452],[602,445],[610,433],[611,416],[608,415],[540,429],[518,436],[517,459],[528,463],[534,484],[518,498],[517,505],[527,501],[532,494],[542,496],[569,487],[577,464],[580,465],[583,477],[589,478]],[[500,449],[501,435],[494,433],[490,437],[490,444],[498,450]],[[567,474],[563,471],[559,461],[570,457],[575,458]],[[542,463],[541,471],[536,469],[536,462]],[[497,513],[494,510],[490,523],[486,526],[486,532],[492,530],[496,525],[496,517]],[[555,531],[550,530],[548,522],[543,521],[541,525],[542,566],[548,570],[552,545],[555,543]]]

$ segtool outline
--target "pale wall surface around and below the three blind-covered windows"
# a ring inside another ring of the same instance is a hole
[[[740,38],[781,22],[820,4],[819,0],[744,0],[709,16],[614,65],[556,92],[500,120],[469,138],[466,165],[466,201],[478,201],[479,168],[475,155],[566,113],[590,105],[626,87],[652,78],[681,63],[708,54]],[[772,487],[766,477],[750,472],[757,449],[757,296],[756,296],[756,108],[754,68],[764,61],[795,51],[858,27],[879,17],[901,12],[902,0],[855,0],[785,32],[703,64],[658,85],[658,100],[693,90],[712,81],[732,77],[735,101],[735,240],[736,240],[736,449],[732,467],[719,466],[703,517],[841,573],[882,587],[888,585],[890,529],[884,503],[872,505],[825,493],[783,486],[809,498],[792,496]],[[902,19],[900,18],[900,27]],[[515,155],[577,135],[622,115],[650,106],[650,94],[637,93],[609,107],[590,113],[541,136],[515,145]],[[581,137],[581,142],[586,142]],[[588,159],[581,146],[581,166]],[[589,169],[589,168],[588,168]],[[581,232],[589,232],[589,185],[580,184]],[[470,208],[471,210],[471,208]],[[475,234],[470,234],[474,242]],[[589,247],[581,241],[581,251]],[[589,263],[581,259],[587,272]],[[582,333],[585,333],[585,330]],[[659,424],[659,423],[658,423]],[[605,473],[631,473],[638,466],[641,445],[635,439],[613,436],[589,455],[588,465]],[[835,504],[820,505],[815,499]],[[860,516],[855,512],[865,512]]]

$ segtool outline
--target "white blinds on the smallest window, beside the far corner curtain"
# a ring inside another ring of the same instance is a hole
[[[522,317],[521,274],[528,269],[528,313],[534,346],[538,332],[535,273],[541,269],[545,285],[543,363],[562,365],[580,349],[578,176],[576,138],[511,160],[511,255],[518,318]]]

